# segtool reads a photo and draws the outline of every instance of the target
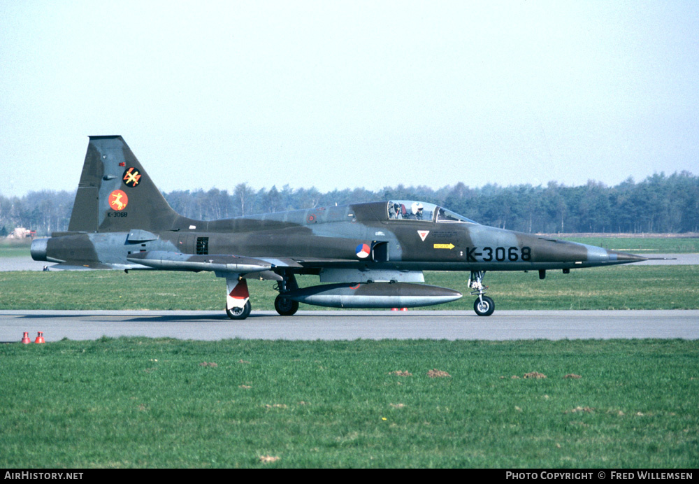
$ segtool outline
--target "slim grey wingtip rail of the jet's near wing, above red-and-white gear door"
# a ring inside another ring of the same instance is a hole
[[[166,250],[149,250],[127,257],[129,262],[164,271],[215,271],[248,273],[268,271],[273,265],[254,257],[237,255],[192,255]]]

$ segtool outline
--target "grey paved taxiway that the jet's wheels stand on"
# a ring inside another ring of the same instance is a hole
[[[0,311],[0,342],[94,340],[101,336],[220,339],[699,339],[699,310],[298,311],[283,317],[255,311],[243,321],[222,311]]]

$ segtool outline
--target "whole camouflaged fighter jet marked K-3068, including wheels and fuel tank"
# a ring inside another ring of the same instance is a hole
[[[642,261],[637,255],[480,225],[412,200],[193,220],[168,205],[121,136],[90,136],[68,232],[31,244],[58,269],[211,271],[226,280],[226,314],[250,315],[248,278],[275,281],[275,310],[299,303],[408,308],[461,292],[424,284],[423,271],[470,273],[473,308],[491,315],[487,271],[546,271]],[[321,285],[298,287],[298,274]]]

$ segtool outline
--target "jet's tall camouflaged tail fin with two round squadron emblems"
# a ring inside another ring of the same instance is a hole
[[[90,136],[70,232],[173,229],[173,211],[121,136]]]

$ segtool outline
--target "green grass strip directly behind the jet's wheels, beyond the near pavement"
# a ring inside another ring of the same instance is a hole
[[[426,283],[466,296],[427,309],[472,310],[468,273],[428,272]],[[318,284],[299,278],[302,287]],[[548,271],[489,272],[485,283],[503,309],[698,309],[699,266],[616,266]],[[273,310],[272,281],[250,280],[253,310]],[[0,309],[222,310],[225,281],[212,273],[167,271],[0,272]],[[302,309],[324,309],[301,305]]]

